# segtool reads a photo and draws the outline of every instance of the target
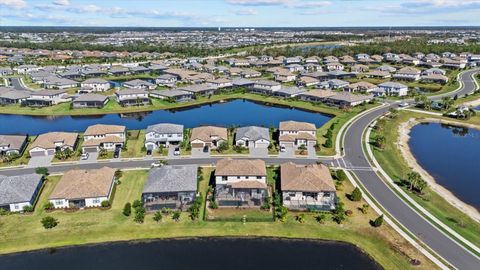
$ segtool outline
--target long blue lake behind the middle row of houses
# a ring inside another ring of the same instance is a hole
[[[177,111],[158,110],[135,114],[98,116],[25,116],[0,114],[0,134],[36,135],[50,131],[83,132],[94,124],[125,125],[127,129],[145,129],[157,123],[183,124],[187,128],[200,125],[278,127],[280,121],[295,120],[322,126],[331,116],[291,109],[270,107],[251,101],[233,100],[207,104]]]

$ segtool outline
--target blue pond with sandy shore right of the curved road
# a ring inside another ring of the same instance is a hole
[[[410,136],[413,155],[437,183],[480,209],[480,131],[429,123]]]

